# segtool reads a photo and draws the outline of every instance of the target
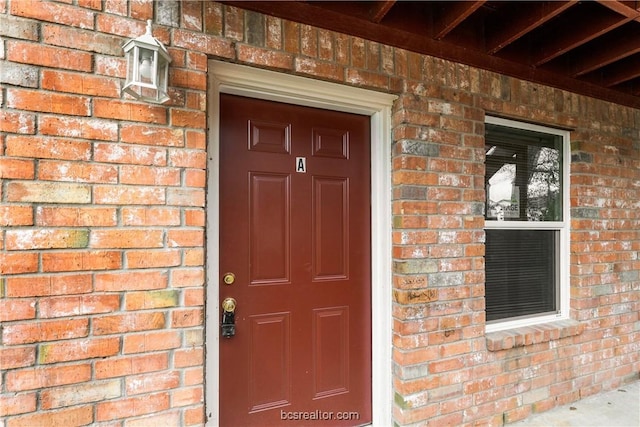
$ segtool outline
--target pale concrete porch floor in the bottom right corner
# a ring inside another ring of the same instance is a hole
[[[640,381],[535,414],[509,427],[640,427]]]

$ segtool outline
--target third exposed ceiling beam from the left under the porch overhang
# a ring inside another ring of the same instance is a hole
[[[497,32],[488,37],[487,53],[493,55],[576,3],[578,0],[523,4],[522,13],[519,16],[511,22],[504,23]]]

